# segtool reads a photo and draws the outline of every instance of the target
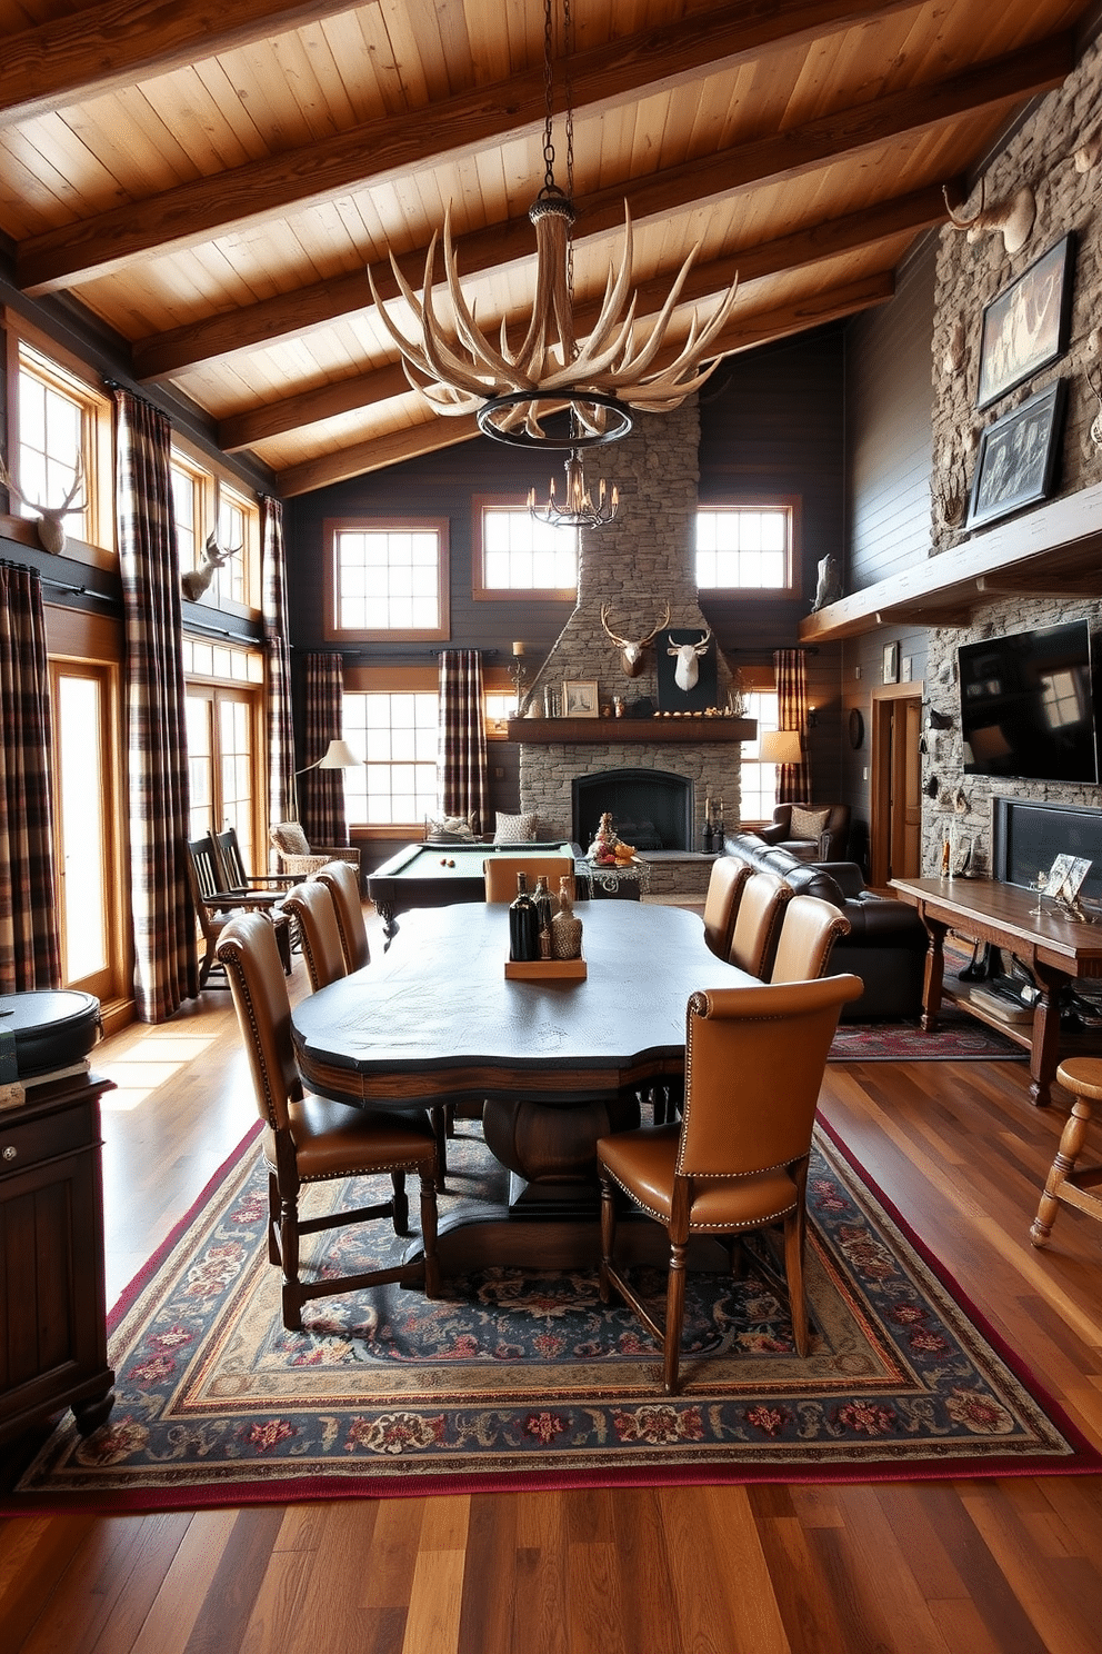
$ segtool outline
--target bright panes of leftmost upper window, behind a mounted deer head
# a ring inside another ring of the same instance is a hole
[[[69,500],[66,556],[106,566],[114,557],[111,404],[26,341],[12,336],[10,349],[17,395],[8,458],[21,496],[12,493],[12,513],[33,519],[36,504]]]

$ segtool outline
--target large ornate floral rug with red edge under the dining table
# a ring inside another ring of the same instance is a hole
[[[501,1193],[466,1131],[444,1209]],[[651,1341],[601,1305],[595,1269],[487,1270],[435,1303],[395,1287],[319,1300],[302,1333],[284,1331],[266,1176],[246,1143],[116,1310],[109,1422],[81,1441],[66,1414],[2,1508],[1100,1467],[826,1133],[808,1197],[811,1356],[795,1355],[762,1262],[743,1279],[691,1274],[686,1389],[669,1399]],[[398,1244],[387,1224],[311,1237],[337,1274]],[[649,1288],[661,1302],[664,1272]]]

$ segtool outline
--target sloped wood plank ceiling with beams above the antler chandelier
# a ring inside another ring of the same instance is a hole
[[[884,303],[1089,3],[573,0],[578,309],[625,200],[641,318],[697,241],[677,319],[739,271],[725,351]],[[23,291],[71,294],[286,495],[473,433],[408,389],[365,266],[420,286],[451,207],[479,319],[529,314],[540,0],[0,0],[0,31]]]

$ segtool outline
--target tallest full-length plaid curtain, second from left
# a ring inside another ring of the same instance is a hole
[[[164,414],[116,390],[119,572],[126,619],[134,1001],[164,1022],[198,994],[187,880],[188,769],[180,567]]]

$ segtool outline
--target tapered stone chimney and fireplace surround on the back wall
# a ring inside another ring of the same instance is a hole
[[[610,630],[618,637],[646,637],[664,619],[666,604],[671,627],[707,627],[692,562],[699,443],[701,417],[691,397],[671,414],[636,415],[623,442],[587,452],[590,490],[601,475],[610,488],[615,483],[620,514],[608,528],[582,533],[578,602],[527,691],[525,708],[542,710],[544,688],[560,693],[565,678],[595,678],[603,705],[611,705],[615,695],[623,695],[628,710],[644,696],[658,705],[656,645],[644,652],[639,676],[628,678],[620,650],[601,627],[601,605],[610,605]],[[724,705],[732,673],[722,653],[717,665],[717,698]],[[724,799],[729,825],[739,820],[739,743],[684,749],[666,743],[522,746],[520,809],[539,810],[547,837],[570,837],[572,779],[620,767],[664,769],[691,779],[697,835],[709,794]]]

